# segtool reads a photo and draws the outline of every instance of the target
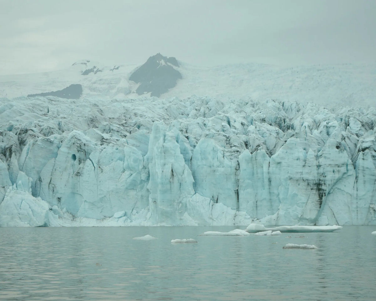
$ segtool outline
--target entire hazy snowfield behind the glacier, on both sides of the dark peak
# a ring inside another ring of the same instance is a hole
[[[138,67],[139,65],[124,64],[106,67],[99,62],[82,60],[74,62],[66,70],[56,72],[2,75],[0,96],[11,99],[81,84],[82,99],[135,97],[141,84],[130,81],[129,78]],[[252,98],[259,101],[276,99],[299,103],[314,102],[330,108],[343,103],[352,106],[376,106],[376,63],[281,68],[260,64],[197,67],[179,62],[174,68],[181,74],[182,79],[177,79],[176,86],[172,85],[173,88],[160,98],[183,99],[197,95],[223,101]],[[92,72],[88,73],[88,70]],[[87,75],[82,75],[86,74],[85,72]],[[159,75],[165,74],[162,72]],[[157,79],[155,82],[159,83]],[[162,91],[158,91],[158,95],[160,92]]]

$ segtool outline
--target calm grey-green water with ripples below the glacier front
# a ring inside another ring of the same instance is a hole
[[[0,300],[376,300],[376,227],[197,236],[232,229],[0,228]]]

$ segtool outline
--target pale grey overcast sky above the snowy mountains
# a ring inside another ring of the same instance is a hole
[[[376,0],[0,0],[0,74],[79,59],[193,65],[376,62]]]

